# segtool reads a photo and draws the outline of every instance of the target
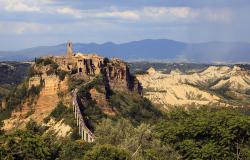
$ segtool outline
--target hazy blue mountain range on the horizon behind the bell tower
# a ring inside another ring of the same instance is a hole
[[[0,60],[23,61],[44,55],[62,55],[66,52],[65,46],[66,44],[59,44],[18,51],[0,51]],[[122,44],[75,43],[73,48],[75,52],[97,53],[105,57],[118,57],[128,61],[250,62],[250,43],[245,42],[184,43],[168,39],[146,39]]]

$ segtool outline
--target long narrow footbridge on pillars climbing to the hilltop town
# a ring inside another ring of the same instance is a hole
[[[76,118],[76,124],[79,128],[79,135],[82,140],[86,142],[93,142],[95,140],[94,134],[90,131],[90,129],[86,126],[84,122],[83,115],[80,110],[79,99],[77,96],[78,89],[73,90],[73,112]]]

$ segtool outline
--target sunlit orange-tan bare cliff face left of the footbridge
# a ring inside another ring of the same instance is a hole
[[[4,129],[23,128],[28,121],[35,120],[41,123],[59,101],[70,104],[68,98],[68,76],[64,79],[54,73],[48,74],[52,65],[34,64],[24,86],[27,86],[27,97],[23,97],[22,103],[14,107],[11,118],[4,121]],[[36,93],[32,93],[36,91]],[[63,96],[62,96],[63,95]]]

